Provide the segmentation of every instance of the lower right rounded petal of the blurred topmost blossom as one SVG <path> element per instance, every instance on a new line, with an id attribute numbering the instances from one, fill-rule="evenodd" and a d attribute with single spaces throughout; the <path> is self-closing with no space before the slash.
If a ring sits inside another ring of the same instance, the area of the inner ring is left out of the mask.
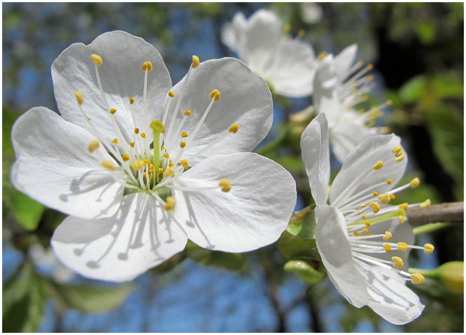
<path id="1" fill-rule="evenodd" d="M 288 39 L 278 44 L 272 66 L 265 70 L 265 74 L 278 94 L 302 97 L 312 93 L 316 67 L 311 46 Z"/>

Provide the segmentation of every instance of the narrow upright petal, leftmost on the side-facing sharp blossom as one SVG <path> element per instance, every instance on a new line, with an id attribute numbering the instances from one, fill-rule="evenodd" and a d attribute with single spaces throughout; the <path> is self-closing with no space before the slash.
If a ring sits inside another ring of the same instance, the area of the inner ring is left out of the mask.
<path id="1" fill-rule="evenodd" d="M 329 128 L 325 114 L 317 115 L 303 131 L 301 156 L 315 204 L 325 205 L 330 180 Z"/>

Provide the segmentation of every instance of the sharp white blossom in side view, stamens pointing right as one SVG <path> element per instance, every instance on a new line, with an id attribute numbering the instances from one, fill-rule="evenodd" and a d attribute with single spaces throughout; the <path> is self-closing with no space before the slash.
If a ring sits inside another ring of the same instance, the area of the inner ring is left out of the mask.
<path id="1" fill-rule="evenodd" d="M 395 193 L 416 187 L 419 179 L 392 189 L 404 174 L 407 158 L 394 134 L 366 139 L 353 149 L 330 187 L 329 130 L 325 114 L 309 123 L 301 137 L 302 159 L 309 176 L 315 208 L 315 242 L 329 279 L 352 305 L 368 305 L 385 320 L 405 324 L 424 305 L 405 286 L 424 282 L 407 273 L 411 249 L 432 253 L 433 246 L 415 246 L 405 209 L 422 204 L 387 205 Z M 389 242 L 393 238 L 396 242 Z"/>

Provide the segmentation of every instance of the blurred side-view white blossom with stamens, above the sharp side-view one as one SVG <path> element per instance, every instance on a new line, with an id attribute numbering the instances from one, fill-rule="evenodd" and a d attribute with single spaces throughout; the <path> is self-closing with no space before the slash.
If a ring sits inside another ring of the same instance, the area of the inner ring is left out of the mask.
<path id="1" fill-rule="evenodd" d="M 367 100 L 367 93 L 374 87 L 372 75 L 366 75 L 372 64 L 363 68 L 363 62 L 353 64 L 357 45 L 345 48 L 335 57 L 322 53 L 314 79 L 313 102 L 317 113 L 325 113 L 329 122 L 329 137 L 336 158 L 343 162 L 349 152 L 366 138 L 388 132 L 387 127 L 374 127 L 375 119 L 391 105 L 387 101 L 370 110 L 355 105 Z"/>

